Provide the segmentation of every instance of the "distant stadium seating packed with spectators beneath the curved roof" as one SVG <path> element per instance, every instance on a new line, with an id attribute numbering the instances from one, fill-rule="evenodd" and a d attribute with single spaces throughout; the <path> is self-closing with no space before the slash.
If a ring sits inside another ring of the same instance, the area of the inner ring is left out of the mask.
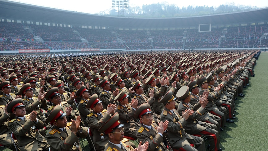
<path id="1" fill-rule="evenodd" d="M 198 32 L 197 29 L 122 31 L 0 22 L 0 31 L 0 50 L 256 48 L 267 47 L 268 43 L 264 34 L 268 33 L 267 24 Z"/>

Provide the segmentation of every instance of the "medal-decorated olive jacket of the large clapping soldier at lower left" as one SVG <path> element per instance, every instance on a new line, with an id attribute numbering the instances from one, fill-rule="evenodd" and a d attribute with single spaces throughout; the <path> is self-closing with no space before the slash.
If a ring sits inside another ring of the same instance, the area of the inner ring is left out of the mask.
<path id="1" fill-rule="evenodd" d="M 18 140 L 21 151 L 38 150 L 38 142 L 47 143 L 46 139 L 39 134 L 38 129 L 44 128 L 44 123 L 38 120 L 37 124 L 31 122 L 27 117 L 21 120 L 18 117 L 9 121 L 9 128 Z"/>

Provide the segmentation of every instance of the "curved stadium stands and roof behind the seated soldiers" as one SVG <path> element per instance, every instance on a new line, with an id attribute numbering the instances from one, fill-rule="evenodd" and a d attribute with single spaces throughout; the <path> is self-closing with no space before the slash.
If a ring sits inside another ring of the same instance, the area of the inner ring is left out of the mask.
<path id="1" fill-rule="evenodd" d="M 6 54 L 20 49 L 81 52 L 267 47 L 268 8 L 195 17 L 125 18 L 5 0 L 0 3 L 0 48 Z"/>

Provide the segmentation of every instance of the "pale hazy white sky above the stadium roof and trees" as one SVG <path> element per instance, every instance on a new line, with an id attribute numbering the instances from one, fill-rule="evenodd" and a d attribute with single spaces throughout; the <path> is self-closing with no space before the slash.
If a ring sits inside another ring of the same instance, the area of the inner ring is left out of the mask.
<path id="1" fill-rule="evenodd" d="M 58 8 L 69 11 L 85 12 L 95 14 L 112 8 L 112 0 L 11 0 L 32 5 Z M 267 0 L 129 0 L 130 6 L 142 6 L 152 3 L 168 2 L 182 8 L 183 6 L 213 6 L 218 7 L 221 4 L 234 3 L 235 5 L 256 6 L 259 8 L 268 7 Z"/>

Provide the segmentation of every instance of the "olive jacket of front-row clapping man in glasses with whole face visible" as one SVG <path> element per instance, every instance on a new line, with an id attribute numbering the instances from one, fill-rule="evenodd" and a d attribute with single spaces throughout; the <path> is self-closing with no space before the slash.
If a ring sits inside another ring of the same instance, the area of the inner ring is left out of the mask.
<path id="1" fill-rule="evenodd" d="M 164 133 L 163 137 L 165 135 L 166 134 Z M 157 134 L 157 130 L 154 126 L 152 126 L 151 129 L 148 129 L 143 124 L 141 124 L 137 133 L 138 142 L 141 141 L 141 144 L 144 144 L 147 141 L 149 142 L 148 151 L 168 151 L 163 143 L 163 137 L 160 134 Z"/>

